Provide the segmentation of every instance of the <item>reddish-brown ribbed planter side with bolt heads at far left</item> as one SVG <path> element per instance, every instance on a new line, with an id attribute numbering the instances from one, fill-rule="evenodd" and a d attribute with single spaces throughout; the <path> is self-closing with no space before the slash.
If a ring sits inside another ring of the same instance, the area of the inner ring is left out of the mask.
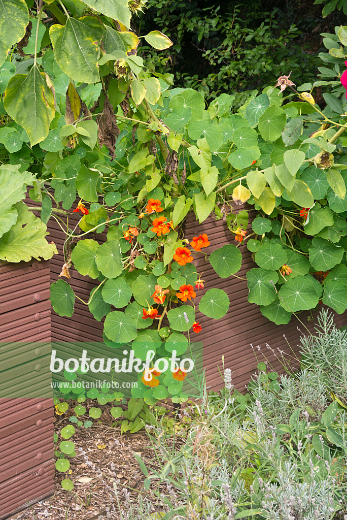
<path id="1" fill-rule="evenodd" d="M 0 262 L 1 519 L 54 492 L 49 286 L 49 262 Z"/>

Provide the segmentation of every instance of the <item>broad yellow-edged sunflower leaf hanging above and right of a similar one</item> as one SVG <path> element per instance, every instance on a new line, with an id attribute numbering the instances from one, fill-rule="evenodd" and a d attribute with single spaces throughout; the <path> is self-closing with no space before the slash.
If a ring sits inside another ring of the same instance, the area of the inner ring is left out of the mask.
<path id="1" fill-rule="evenodd" d="M 102 34 L 103 26 L 93 16 L 78 19 L 70 17 L 64 26 L 51 25 L 49 36 L 56 61 L 61 70 L 74 81 L 100 81 L 97 60 Z"/>

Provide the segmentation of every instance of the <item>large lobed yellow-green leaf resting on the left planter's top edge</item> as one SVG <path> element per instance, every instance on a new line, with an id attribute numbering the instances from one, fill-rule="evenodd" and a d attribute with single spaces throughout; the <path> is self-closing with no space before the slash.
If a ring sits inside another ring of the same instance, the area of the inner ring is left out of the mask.
<path id="1" fill-rule="evenodd" d="M 23 202 L 18 202 L 15 209 L 18 218 L 16 223 L 2 236 L 0 260 L 10 263 L 17 263 L 21 260 L 29 262 L 31 258 L 48 260 L 54 253 L 57 253 L 55 244 L 50 244 L 45 239 L 48 232 L 42 220 L 35 217 Z"/>

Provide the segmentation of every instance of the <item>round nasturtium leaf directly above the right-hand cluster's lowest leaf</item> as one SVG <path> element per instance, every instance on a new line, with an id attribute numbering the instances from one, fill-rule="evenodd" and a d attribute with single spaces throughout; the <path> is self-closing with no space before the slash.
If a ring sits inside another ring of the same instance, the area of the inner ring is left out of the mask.
<path id="1" fill-rule="evenodd" d="M 274 284 L 278 281 L 276 271 L 255 268 L 250 269 L 247 274 L 247 284 L 249 289 L 249 303 L 257 305 L 270 305 L 276 299 Z"/>

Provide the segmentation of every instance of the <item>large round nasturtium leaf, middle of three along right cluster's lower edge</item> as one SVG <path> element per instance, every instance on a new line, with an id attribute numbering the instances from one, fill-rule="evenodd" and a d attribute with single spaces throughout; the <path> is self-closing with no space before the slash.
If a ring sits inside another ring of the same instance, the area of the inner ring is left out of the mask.
<path id="1" fill-rule="evenodd" d="M 310 278 L 299 275 L 282 285 L 278 296 L 285 310 L 296 313 L 298 310 L 312 309 L 318 304 L 319 296 L 312 282 L 313 279 Z"/>

